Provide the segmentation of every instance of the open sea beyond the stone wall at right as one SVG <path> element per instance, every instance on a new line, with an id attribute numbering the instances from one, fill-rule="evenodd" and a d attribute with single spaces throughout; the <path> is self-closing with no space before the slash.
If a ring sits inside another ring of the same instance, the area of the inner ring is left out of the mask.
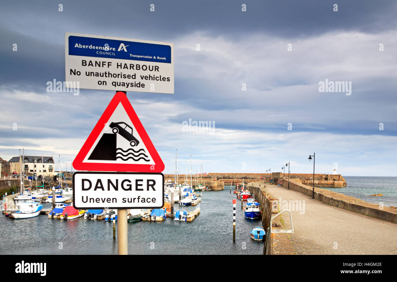
<path id="1" fill-rule="evenodd" d="M 338 193 L 359 198 L 361 200 L 384 206 L 397 206 L 397 177 L 378 176 L 343 176 L 347 187 L 324 188 Z M 372 194 L 383 194 L 383 196 L 370 196 Z"/>

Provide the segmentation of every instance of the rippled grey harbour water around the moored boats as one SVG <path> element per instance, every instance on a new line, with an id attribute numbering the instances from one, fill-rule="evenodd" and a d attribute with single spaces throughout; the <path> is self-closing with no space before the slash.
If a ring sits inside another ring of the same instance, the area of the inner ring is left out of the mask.
<path id="1" fill-rule="evenodd" d="M 228 187 L 229 188 L 229 187 Z M 226 189 L 226 187 L 225 187 Z M 234 190 L 234 187 L 233 187 Z M 174 221 L 128 223 L 129 254 L 262 254 L 263 242 L 251 239 L 249 232 L 262 226 L 260 220 L 244 217 L 241 202 L 236 205 L 236 240 L 233 243 L 233 203 L 230 189 L 206 191 L 198 206 L 180 207 L 200 215 L 192 222 Z M 246 202 L 244 202 L 246 203 Z M 50 204 L 44 204 L 50 208 Z M 30 219 L 0 218 L 0 254 L 117 254 L 113 223 L 70 221 L 39 215 Z M 117 225 L 117 223 L 116 223 Z M 116 232 L 117 234 L 117 232 Z"/>

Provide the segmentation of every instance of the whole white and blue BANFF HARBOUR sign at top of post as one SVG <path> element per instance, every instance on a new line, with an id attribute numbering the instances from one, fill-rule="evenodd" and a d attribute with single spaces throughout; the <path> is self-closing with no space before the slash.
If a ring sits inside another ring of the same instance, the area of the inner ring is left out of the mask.
<path id="1" fill-rule="evenodd" d="M 173 94 L 173 43 L 66 32 L 65 72 L 79 88 Z"/>

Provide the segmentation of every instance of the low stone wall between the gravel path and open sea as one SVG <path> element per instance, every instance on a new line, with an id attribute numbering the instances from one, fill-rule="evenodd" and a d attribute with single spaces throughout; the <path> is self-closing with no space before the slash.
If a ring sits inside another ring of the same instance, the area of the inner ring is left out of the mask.
<path id="1" fill-rule="evenodd" d="M 288 179 L 283 179 L 283 187 L 288 187 Z M 312 196 L 313 187 L 305 185 L 293 179 L 289 180 L 289 189 Z M 314 187 L 314 198 L 331 206 L 342 208 L 356 213 L 369 215 L 385 221 L 397 223 L 397 210 L 385 207 L 382 204 L 371 204 L 364 200 L 346 196 L 341 193 Z"/>

